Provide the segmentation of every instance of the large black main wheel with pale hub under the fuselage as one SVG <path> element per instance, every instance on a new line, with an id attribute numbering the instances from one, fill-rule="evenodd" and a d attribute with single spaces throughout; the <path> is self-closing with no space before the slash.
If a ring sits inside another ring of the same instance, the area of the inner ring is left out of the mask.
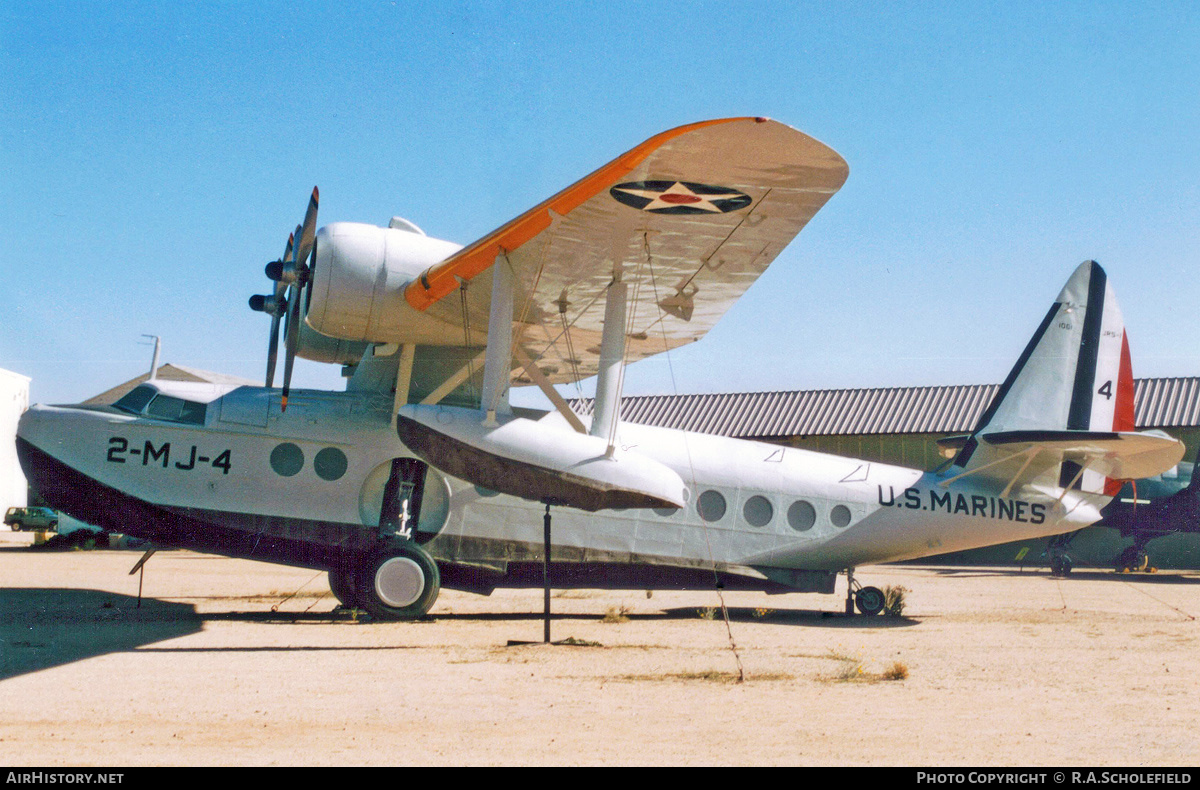
<path id="1" fill-rule="evenodd" d="M 442 591 L 438 563 L 415 543 L 389 543 L 355 574 L 359 608 L 376 620 L 422 617 Z"/>

